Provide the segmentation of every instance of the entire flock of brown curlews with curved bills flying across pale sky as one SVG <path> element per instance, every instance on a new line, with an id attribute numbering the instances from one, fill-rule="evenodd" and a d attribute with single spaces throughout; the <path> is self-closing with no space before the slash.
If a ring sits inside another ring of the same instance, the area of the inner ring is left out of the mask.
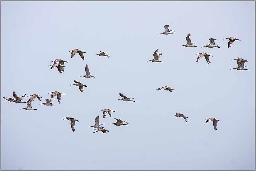
<path id="1" fill-rule="evenodd" d="M 169 27 L 169 25 L 164 26 L 165 32 L 160 33 L 160 34 L 168 35 L 168 34 L 174 34 L 174 33 L 175 33 L 173 30 L 169 30 L 168 27 Z M 181 46 L 185 46 L 185 47 L 197 47 L 197 46 L 193 45 L 193 43 L 191 43 L 191 39 L 189 38 L 189 36 L 191 36 L 191 35 L 188 34 L 187 37 L 186 37 L 187 44 L 181 45 Z M 236 39 L 236 38 L 234 38 L 234 37 L 228 37 L 228 38 L 226 38 L 226 39 L 229 39 L 229 41 L 228 41 L 228 48 L 231 47 L 231 44 L 232 44 L 235 40 L 239 40 L 239 41 L 240 41 L 240 39 Z M 220 46 L 218 46 L 218 45 L 215 44 L 215 42 L 214 42 L 214 40 L 216 40 L 216 39 L 210 38 L 209 40 L 210 40 L 210 44 L 209 44 L 209 45 L 205 45 L 205 46 L 203 46 L 203 47 L 209 47 L 209 48 L 217 47 L 217 48 L 220 48 Z M 223 40 L 224 40 L 224 39 L 223 39 Z M 180 47 L 181 47 L 181 46 L 180 46 Z M 81 51 L 81 50 L 79 50 L 79 49 L 73 49 L 72 51 L 69 51 L 69 52 L 71 52 L 71 58 L 73 58 L 73 57 L 75 56 L 75 53 L 79 53 L 79 55 L 80 55 L 80 57 L 82 58 L 82 60 L 84 60 L 84 55 L 83 55 L 83 53 L 86 53 L 86 52 Z M 158 52 L 158 49 L 156 49 L 156 51 L 155 51 L 154 54 L 153 54 L 154 59 L 151 59 L 151 60 L 149 60 L 149 61 L 152 61 L 152 62 L 162 62 L 162 61 L 159 61 L 160 55 L 162 55 L 162 53 L 160 53 L 160 54 L 158 55 L 157 52 Z M 100 53 L 98 53 L 98 54 L 96 54 L 96 55 L 99 55 L 99 56 L 101 56 L 101 57 L 106 56 L 106 57 L 109 58 L 109 55 L 107 55 L 106 53 L 104 53 L 104 52 L 102 52 L 102 51 L 100 51 Z M 199 59 L 201 59 L 201 58 L 204 56 L 205 59 L 206 59 L 206 61 L 207 61 L 207 63 L 210 64 L 209 56 L 212 57 L 212 55 L 207 54 L 207 53 L 204 53 L 204 52 L 198 53 L 198 54 L 196 54 L 196 55 L 198 55 L 196 62 L 198 62 Z M 247 66 L 244 66 L 244 63 L 245 63 L 245 62 L 248 62 L 247 60 L 244 60 L 244 59 L 239 58 L 239 57 L 238 57 L 237 59 L 233 59 L 233 60 L 236 60 L 236 61 L 237 61 L 238 67 L 237 67 L 237 68 L 232 68 L 232 69 L 237 69 L 237 70 L 249 70 L 249 69 L 245 69 L 245 68 L 244 68 L 244 67 L 247 67 Z M 232 61 L 233 61 L 233 60 L 232 60 Z M 51 62 L 54 62 L 54 63 L 53 63 L 52 65 L 49 65 L 49 66 L 51 66 L 50 69 L 52 69 L 52 68 L 54 68 L 54 67 L 57 67 L 59 73 L 62 74 L 62 73 L 64 72 L 64 68 L 63 68 L 63 67 L 66 67 L 66 66 L 64 66 L 64 63 L 67 62 L 67 61 L 64 61 L 64 60 L 62 60 L 62 59 L 55 59 L 54 61 L 51 61 Z M 59 62 L 59 64 L 58 64 L 57 62 Z M 147 62 L 148 62 L 148 61 L 147 61 Z M 68 62 L 67 62 L 67 63 L 68 63 Z M 231 69 L 230 69 L 230 70 L 231 70 Z M 86 66 L 85 66 L 85 72 L 86 72 L 86 75 L 83 75 L 83 76 L 80 76 L 80 77 L 95 78 L 94 76 L 91 76 L 91 75 L 90 75 L 90 71 L 89 71 L 89 68 L 88 68 L 88 65 L 87 65 L 87 64 L 86 64 Z M 72 86 L 72 85 L 78 86 L 78 87 L 79 87 L 79 90 L 80 90 L 81 92 L 84 91 L 84 90 L 83 90 L 83 87 L 87 87 L 86 85 L 84 85 L 84 84 L 82 84 L 82 83 L 80 83 L 80 82 L 77 82 L 77 80 L 74 80 L 74 82 L 75 82 L 76 84 L 71 84 L 70 86 Z M 168 90 L 168 91 L 170 91 L 170 92 L 172 92 L 172 91 L 175 90 L 175 89 L 173 89 L 173 88 L 171 88 L 171 87 L 167 87 L 167 86 L 158 88 L 158 89 L 156 89 L 156 90 L 161 90 L 161 89 Z M 53 91 L 53 92 L 50 92 L 50 93 L 51 93 L 50 100 L 49 100 L 49 99 L 46 99 L 46 103 L 41 103 L 40 105 L 43 104 L 43 105 L 46 105 L 46 106 L 54 106 L 54 105 L 51 103 L 51 100 L 52 100 L 55 96 L 57 96 L 57 100 L 58 100 L 58 102 L 59 102 L 59 104 L 60 104 L 60 103 L 61 103 L 61 102 L 60 102 L 60 100 L 61 100 L 61 95 L 62 95 L 62 94 L 65 94 L 65 93 L 61 93 L 61 92 L 58 92 L 58 91 Z M 48 93 L 48 94 L 49 94 L 49 93 Z M 123 98 L 122 98 L 122 99 L 117 99 L 117 100 L 133 101 L 133 102 L 135 102 L 134 100 L 132 100 L 133 98 L 128 98 L 128 97 L 126 97 L 125 95 L 123 95 L 122 93 L 119 93 L 119 95 L 120 95 L 121 97 L 123 97 Z M 41 101 L 42 96 L 37 95 L 37 94 L 30 95 L 31 97 L 30 97 L 30 98 L 28 99 L 28 101 L 26 101 L 26 102 L 25 102 L 25 101 L 22 101 L 25 96 L 26 96 L 26 94 L 23 95 L 23 96 L 21 96 L 21 97 L 18 97 L 18 96 L 16 95 L 16 93 L 13 91 L 13 97 L 14 97 L 15 99 L 12 99 L 12 98 L 9 98 L 9 97 L 3 97 L 3 98 L 4 98 L 5 100 L 9 101 L 9 102 L 27 103 L 27 107 L 22 108 L 22 109 L 25 109 L 25 110 L 37 110 L 37 109 L 32 108 L 31 103 L 32 103 L 32 101 L 34 101 L 35 98 L 37 98 L 39 101 Z M 27 97 L 29 97 L 29 96 L 27 96 Z M 4 100 L 4 101 L 5 101 L 5 100 Z M 21 110 L 21 109 L 20 109 L 20 110 Z M 106 114 L 105 114 L 105 113 L 108 113 L 108 114 L 111 116 L 111 113 L 110 113 L 110 112 L 115 112 L 114 110 L 110 110 L 110 109 L 104 109 L 104 110 L 100 110 L 100 111 L 103 111 L 103 118 L 106 117 Z M 176 116 L 176 117 L 183 117 L 183 118 L 185 119 L 185 121 L 187 122 L 187 118 L 188 118 L 188 117 L 185 116 L 185 115 L 183 115 L 183 114 L 181 114 L 181 113 L 178 113 L 178 112 L 177 112 L 176 115 L 174 115 L 174 116 Z M 77 121 L 77 122 L 79 122 L 79 121 L 78 121 L 77 119 L 74 119 L 74 118 L 71 118 L 71 117 L 66 117 L 66 118 L 64 118 L 64 119 L 67 119 L 67 120 L 70 120 L 70 121 L 71 121 L 71 123 L 70 123 L 70 124 L 71 124 L 71 129 L 72 129 L 72 131 L 74 132 L 74 131 L 75 131 L 75 128 L 74 128 L 75 121 Z M 64 120 L 64 119 L 63 119 L 63 120 Z M 114 125 L 116 125 L 116 126 L 128 125 L 128 123 L 125 122 L 125 121 L 123 121 L 123 120 L 120 120 L 120 119 L 117 119 L 117 118 L 115 118 L 115 120 L 116 120 L 116 122 L 115 122 L 115 123 L 112 123 L 112 124 L 114 124 Z M 205 124 L 207 124 L 207 122 L 209 122 L 209 121 L 211 121 L 211 120 L 213 121 L 213 127 L 214 127 L 214 130 L 216 131 L 216 130 L 217 130 L 217 128 L 216 128 L 216 127 L 217 127 L 217 123 L 218 123 L 218 121 L 220 121 L 220 120 L 217 120 L 217 119 L 215 119 L 215 118 L 208 118 L 208 119 L 206 119 Z M 126 123 L 126 124 L 125 124 L 125 123 Z M 101 126 L 101 125 L 104 125 L 104 124 L 100 124 L 100 123 L 99 123 L 99 116 L 97 116 L 97 117 L 95 118 L 95 125 L 90 126 L 90 127 L 96 128 L 96 129 L 94 129 L 94 130 L 97 130 L 97 131 L 95 131 L 95 132 L 98 132 L 98 131 L 102 131 L 103 133 L 109 132 L 109 130 L 104 129 L 104 127 Z M 110 124 L 108 124 L 108 125 L 110 125 Z M 89 128 L 90 128 L 90 127 L 89 127 Z M 94 132 L 94 133 L 95 133 L 95 132 Z"/>

